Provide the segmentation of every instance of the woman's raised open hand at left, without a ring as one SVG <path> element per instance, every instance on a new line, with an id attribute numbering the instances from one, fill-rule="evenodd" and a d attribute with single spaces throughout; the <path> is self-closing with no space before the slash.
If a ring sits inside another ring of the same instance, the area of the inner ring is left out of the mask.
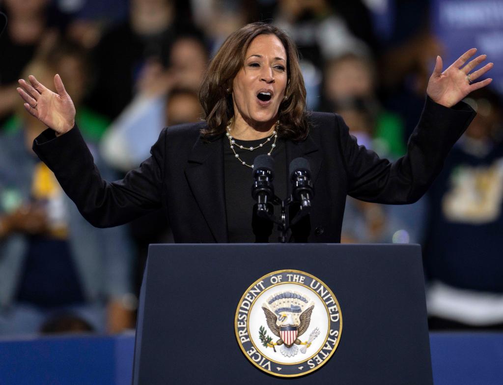
<path id="1" fill-rule="evenodd" d="M 39 83 L 35 76 L 28 76 L 30 83 L 19 80 L 18 93 L 26 102 L 26 110 L 46 126 L 56 131 L 56 136 L 64 134 L 75 125 L 75 106 L 64 89 L 58 74 L 54 76 L 57 94 Z"/>

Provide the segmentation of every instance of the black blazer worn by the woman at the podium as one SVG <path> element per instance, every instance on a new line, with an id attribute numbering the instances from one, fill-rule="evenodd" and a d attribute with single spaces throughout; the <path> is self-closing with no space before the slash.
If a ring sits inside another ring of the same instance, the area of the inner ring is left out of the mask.
<path id="1" fill-rule="evenodd" d="M 346 196 L 369 202 L 412 203 L 440 172 L 450 148 L 475 113 L 464 103 L 446 108 L 427 99 L 407 153 L 394 163 L 359 146 L 336 114 L 310 114 L 302 142 L 286 141 L 287 165 L 311 166 L 315 198 L 309 242 L 340 242 Z M 176 242 L 228 242 L 224 197 L 224 135 L 204 141 L 205 122 L 164 128 L 151 157 L 123 180 L 101 179 L 78 128 L 55 137 L 44 131 L 33 149 L 93 225 L 123 224 L 162 207 Z"/>

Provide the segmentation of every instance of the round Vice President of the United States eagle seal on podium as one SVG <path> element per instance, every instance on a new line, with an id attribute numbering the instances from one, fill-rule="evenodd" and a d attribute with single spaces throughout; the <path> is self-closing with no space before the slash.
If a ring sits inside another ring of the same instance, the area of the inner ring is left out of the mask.
<path id="1" fill-rule="evenodd" d="M 234 319 L 246 358 L 280 377 L 324 365 L 339 345 L 342 327 L 339 302 L 330 288 L 298 270 L 274 271 L 251 284 Z"/>

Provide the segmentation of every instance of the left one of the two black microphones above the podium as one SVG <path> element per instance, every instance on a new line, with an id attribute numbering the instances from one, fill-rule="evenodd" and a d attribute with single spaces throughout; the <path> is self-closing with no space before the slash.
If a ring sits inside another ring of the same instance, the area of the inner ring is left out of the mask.
<path id="1" fill-rule="evenodd" d="M 257 201 L 257 212 L 267 213 L 274 198 L 274 160 L 269 155 L 259 155 L 253 163 L 254 184 L 251 196 Z"/>

